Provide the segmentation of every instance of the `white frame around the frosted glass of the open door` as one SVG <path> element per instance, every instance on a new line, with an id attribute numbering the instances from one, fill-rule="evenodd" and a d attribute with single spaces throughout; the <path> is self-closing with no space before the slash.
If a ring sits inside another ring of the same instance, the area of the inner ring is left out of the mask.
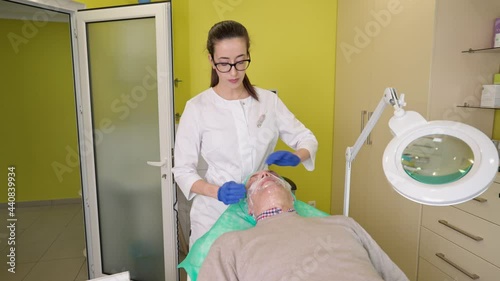
<path id="1" fill-rule="evenodd" d="M 157 50 L 157 81 L 158 81 L 158 112 L 160 155 L 159 159 L 152 161 L 161 162 L 161 196 L 162 196 L 162 218 L 163 218 L 163 253 L 165 261 L 165 279 L 177 279 L 177 222 L 174 212 L 174 181 L 172 177 L 172 151 L 173 151 L 173 83 L 172 83 L 172 44 L 171 44 L 171 22 L 170 3 L 159 2 L 148 5 L 132 5 L 106 9 L 95 9 L 77 13 L 77 34 L 79 54 L 79 79 L 81 87 L 81 114 L 85 141 L 83 142 L 85 152 L 81 155 L 86 158 L 86 188 L 88 197 L 86 207 L 89 207 L 89 224 L 92 247 L 88 249 L 89 271 L 91 277 L 102 276 L 101 249 L 99 237 L 99 223 L 97 210 L 96 178 L 94 167 L 94 144 L 92 138 L 92 116 L 90 98 L 90 79 L 88 71 L 88 53 L 86 22 L 98 22 L 103 20 L 122 20 L 132 18 L 155 17 L 156 24 L 156 50 Z M 161 28 L 164 27 L 164 28 Z M 166 51 L 163 51 L 166 50 Z M 169 59 L 170 58 L 170 59 Z M 81 153 L 82 154 L 82 153 Z M 145 163 L 146 164 L 146 163 Z"/>

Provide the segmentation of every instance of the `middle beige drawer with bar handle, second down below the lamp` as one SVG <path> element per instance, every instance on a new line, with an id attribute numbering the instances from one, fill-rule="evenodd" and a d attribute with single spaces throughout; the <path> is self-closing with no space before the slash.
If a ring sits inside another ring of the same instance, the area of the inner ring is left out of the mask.
<path id="1" fill-rule="evenodd" d="M 422 225 L 496 266 L 500 266 L 500 226 L 457 208 L 430 206 L 423 208 Z M 476 236 L 480 241 L 459 232 L 460 230 Z"/>

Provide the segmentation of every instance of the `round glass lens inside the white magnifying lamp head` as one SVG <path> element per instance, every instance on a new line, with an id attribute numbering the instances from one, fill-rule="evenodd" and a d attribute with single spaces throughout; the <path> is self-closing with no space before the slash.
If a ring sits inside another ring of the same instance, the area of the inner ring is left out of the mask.
<path id="1" fill-rule="evenodd" d="M 401 164 L 424 184 L 446 184 L 465 176 L 474 165 L 474 153 L 464 141 L 450 135 L 420 137 L 403 151 Z"/>

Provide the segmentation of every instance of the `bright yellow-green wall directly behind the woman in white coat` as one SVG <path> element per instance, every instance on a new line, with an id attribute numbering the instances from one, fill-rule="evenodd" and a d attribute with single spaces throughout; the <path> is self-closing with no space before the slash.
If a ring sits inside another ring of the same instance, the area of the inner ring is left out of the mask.
<path id="1" fill-rule="evenodd" d="M 175 9 L 175 0 L 174 9 Z M 189 1 L 191 96 L 209 86 L 207 32 L 218 21 L 245 25 L 252 40 L 253 84 L 277 89 L 280 98 L 319 141 L 314 172 L 278 168 L 298 185 L 297 197 L 330 211 L 336 1 Z M 175 17 L 175 10 L 174 10 Z M 174 27 L 175 30 L 175 27 Z M 176 37 L 174 36 L 174 40 Z M 277 149 L 286 149 L 283 144 Z M 274 167 L 272 167 L 274 168 Z"/>

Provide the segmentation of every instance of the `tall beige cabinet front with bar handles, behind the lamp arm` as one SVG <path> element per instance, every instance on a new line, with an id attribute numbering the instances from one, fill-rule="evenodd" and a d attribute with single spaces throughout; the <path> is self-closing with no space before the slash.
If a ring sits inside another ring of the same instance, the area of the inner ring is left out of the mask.
<path id="1" fill-rule="evenodd" d="M 408 94 L 409 110 L 426 115 L 434 24 L 432 1 L 338 3 L 333 213 L 342 210 L 345 150 L 360 134 L 361 110 L 373 111 L 384 89 L 395 87 Z M 372 145 L 364 145 L 352 163 L 349 215 L 415 280 L 421 206 L 393 191 L 382 170 L 391 116 L 388 107 L 372 131 Z"/>

